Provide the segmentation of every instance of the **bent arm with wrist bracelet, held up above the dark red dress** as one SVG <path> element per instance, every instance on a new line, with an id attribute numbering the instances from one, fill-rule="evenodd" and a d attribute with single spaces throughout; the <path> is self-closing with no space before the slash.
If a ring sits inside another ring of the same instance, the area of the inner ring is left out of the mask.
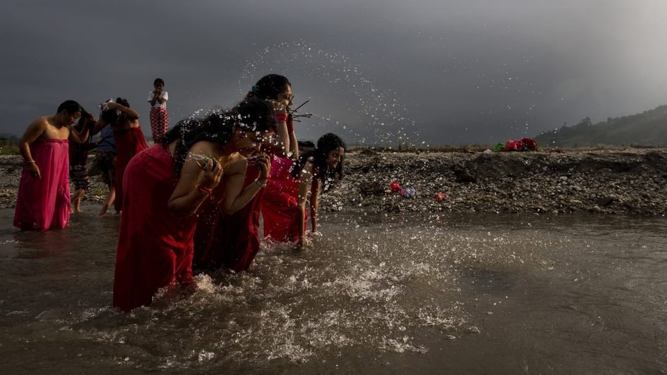
<path id="1" fill-rule="evenodd" d="M 256 163 L 260 172 L 254 183 L 244 187 L 248 162 Z M 250 160 L 239 160 L 235 164 L 230 166 L 230 169 L 235 172 L 224 178 L 224 197 L 218 203 L 218 207 L 225 215 L 236 213 L 252 201 L 259 190 L 266 186 L 271 169 L 271 162 L 268 156 L 264 155 L 254 156 Z"/>

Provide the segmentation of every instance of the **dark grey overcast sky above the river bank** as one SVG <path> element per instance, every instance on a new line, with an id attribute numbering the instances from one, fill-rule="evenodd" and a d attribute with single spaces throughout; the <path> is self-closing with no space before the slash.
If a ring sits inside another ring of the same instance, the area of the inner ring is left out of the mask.
<path id="1" fill-rule="evenodd" d="M 299 139 L 495 144 L 667 103 L 664 0 L 4 0 L 0 133 L 126 97 L 150 135 L 288 76 Z"/>

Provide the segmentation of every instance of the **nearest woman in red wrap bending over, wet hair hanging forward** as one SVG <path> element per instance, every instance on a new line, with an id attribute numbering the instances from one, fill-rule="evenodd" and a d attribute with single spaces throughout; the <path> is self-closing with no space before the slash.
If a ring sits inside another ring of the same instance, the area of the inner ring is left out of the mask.
<path id="1" fill-rule="evenodd" d="M 123 185 L 115 308 L 147 306 L 160 288 L 192 285 L 192 237 L 200 210 L 210 204 L 231 214 L 261 190 L 270 160 L 253 154 L 273 129 L 268 103 L 243 101 L 228 112 L 181 121 L 160 144 L 130 161 Z M 248 160 L 261 172 L 244 187 Z"/>

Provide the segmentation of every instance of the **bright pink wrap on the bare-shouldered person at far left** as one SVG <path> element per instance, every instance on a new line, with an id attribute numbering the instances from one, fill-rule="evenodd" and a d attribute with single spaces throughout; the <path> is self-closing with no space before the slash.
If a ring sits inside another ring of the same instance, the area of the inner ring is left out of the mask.
<path id="1" fill-rule="evenodd" d="M 47 231 L 65 228 L 71 212 L 69 201 L 69 142 L 44 140 L 30 144 L 42 178 L 23 169 L 14 211 L 14 226 Z"/>

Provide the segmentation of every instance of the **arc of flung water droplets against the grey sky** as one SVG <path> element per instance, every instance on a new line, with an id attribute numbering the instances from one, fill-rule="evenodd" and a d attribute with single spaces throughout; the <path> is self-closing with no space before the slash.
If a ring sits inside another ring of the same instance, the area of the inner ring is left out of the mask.
<path id="1" fill-rule="evenodd" d="M 283 74 L 296 85 L 295 106 L 312 98 L 303 110 L 313 117 L 298 125 L 299 138 L 318 138 L 331 132 L 348 144 L 371 146 L 391 145 L 399 139 L 411 144 L 418 138 L 415 120 L 402 105 L 404 100 L 365 76 L 362 67 L 347 56 L 303 40 L 265 47 L 243 68 L 238 81 L 240 94 L 269 73 Z M 299 80 L 296 83 L 295 77 Z M 309 90 L 313 88 L 324 91 Z M 304 97 L 298 99 L 300 95 Z"/>

